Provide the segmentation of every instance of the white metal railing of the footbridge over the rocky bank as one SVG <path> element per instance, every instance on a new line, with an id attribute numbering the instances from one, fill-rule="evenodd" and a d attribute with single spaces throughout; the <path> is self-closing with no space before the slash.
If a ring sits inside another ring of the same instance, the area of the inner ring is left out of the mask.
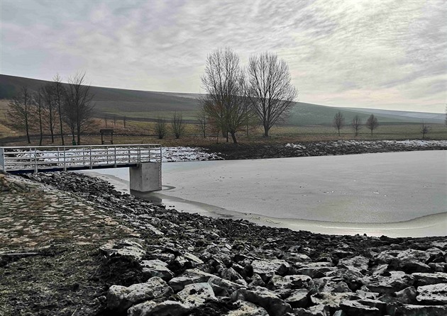
<path id="1" fill-rule="evenodd" d="M 160 162 L 160 144 L 0 147 L 3 171 L 95 169 Z"/>

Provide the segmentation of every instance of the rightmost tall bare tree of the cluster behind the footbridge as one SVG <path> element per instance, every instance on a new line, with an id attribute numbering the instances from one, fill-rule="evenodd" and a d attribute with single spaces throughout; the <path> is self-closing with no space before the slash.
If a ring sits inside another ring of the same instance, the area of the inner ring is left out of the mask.
<path id="1" fill-rule="evenodd" d="M 80 145 L 81 135 L 91 123 L 93 109 L 93 95 L 90 93 L 90 85 L 85 84 L 85 73 L 69 78 L 65 93 L 65 113 L 72 132 L 76 132 L 77 145 Z"/>

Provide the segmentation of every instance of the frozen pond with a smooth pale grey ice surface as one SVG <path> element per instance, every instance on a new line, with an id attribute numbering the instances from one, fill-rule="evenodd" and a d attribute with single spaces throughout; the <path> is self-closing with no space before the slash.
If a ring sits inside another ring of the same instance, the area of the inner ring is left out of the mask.
<path id="1" fill-rule="evenodd" d="M 146 198 L 296 230 L 447 235 L 446 164 L 446 151 L 170 162 Z M 127 169 L 99 172 L 128 189 Z"/>

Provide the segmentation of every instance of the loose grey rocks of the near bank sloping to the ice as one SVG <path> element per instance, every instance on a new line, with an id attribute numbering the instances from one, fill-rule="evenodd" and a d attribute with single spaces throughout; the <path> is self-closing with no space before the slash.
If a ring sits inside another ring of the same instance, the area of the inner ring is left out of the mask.
<path id="1" fill-rule="evenodd" d="M 31 174 L 126 219 L 101 315 L 447 315 L 447 238 L 335 236 L 166 210 L 81 174 Z"/>

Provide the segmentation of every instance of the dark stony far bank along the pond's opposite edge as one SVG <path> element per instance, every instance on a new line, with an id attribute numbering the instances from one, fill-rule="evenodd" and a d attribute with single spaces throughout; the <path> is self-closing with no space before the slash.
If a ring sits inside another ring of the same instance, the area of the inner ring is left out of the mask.
<path id="1" fill-rule="evenodd" d="M 285 157 L 331 156 L 373 152 L 407 152 L 414 150 L 446 150 L 447 140 L 338 140 L 329 142 L 300 142 L 285 145 L 257 144 L 205 147 L 219 152 L 223 159 L 264 159 Z"/>

